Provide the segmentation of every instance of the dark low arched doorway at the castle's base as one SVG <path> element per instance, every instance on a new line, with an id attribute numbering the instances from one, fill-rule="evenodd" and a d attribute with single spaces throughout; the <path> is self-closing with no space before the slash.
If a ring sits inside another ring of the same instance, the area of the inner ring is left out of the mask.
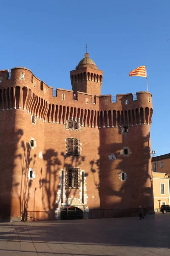
<path id="1" fill-rule="evenodd" d="M 83 212 L 78 207 L 69 206 L 61 211 L 61 221 L 80 220 L 83 218 Z"/>

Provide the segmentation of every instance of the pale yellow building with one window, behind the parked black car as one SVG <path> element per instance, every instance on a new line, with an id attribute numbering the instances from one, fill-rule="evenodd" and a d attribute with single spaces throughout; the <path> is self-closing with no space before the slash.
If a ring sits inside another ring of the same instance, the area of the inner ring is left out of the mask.
<path id="1" fill-rule="evenodd" d="M 161 205 L 170 204 L 170 177 L 167 173 L 153 172 L 154 209 L 159 211 Z"/>

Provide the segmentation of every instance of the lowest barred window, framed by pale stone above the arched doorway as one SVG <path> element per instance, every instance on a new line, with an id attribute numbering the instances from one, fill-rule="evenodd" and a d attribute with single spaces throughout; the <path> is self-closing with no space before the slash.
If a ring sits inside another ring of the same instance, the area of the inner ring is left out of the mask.
<path id="1" fill-rule="evenodd" d="M 65 188 L 79 189 L 79 168 L 66 168 Z"/>

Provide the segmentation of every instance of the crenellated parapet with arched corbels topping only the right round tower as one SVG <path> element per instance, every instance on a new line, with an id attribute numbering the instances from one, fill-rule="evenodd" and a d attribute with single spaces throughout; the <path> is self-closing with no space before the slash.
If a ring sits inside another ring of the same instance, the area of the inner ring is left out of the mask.
<path id="1" fill-rule="evenodd" d="M 152 95 L 149 92 L 99 96 L 99 128 L 123 125 L 150 125 L 153 114 Z"/>

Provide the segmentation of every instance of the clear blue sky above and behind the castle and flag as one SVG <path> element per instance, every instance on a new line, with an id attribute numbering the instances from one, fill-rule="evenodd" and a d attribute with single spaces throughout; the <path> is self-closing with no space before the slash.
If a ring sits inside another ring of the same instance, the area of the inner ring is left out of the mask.
<path id="1" fill-rule="evenodd" d="M 170 152 L 169 0 L 8 0 L 0 5 L 0 69 L 28 67 L 49 86 L 71 90 L 85 44 L 104 71 L 102 94 L 146 90 L 129 77 L 147 65 L 153 94 L 152 149 Z M 167 41 L 169 39 L 169 41 Z"/>

